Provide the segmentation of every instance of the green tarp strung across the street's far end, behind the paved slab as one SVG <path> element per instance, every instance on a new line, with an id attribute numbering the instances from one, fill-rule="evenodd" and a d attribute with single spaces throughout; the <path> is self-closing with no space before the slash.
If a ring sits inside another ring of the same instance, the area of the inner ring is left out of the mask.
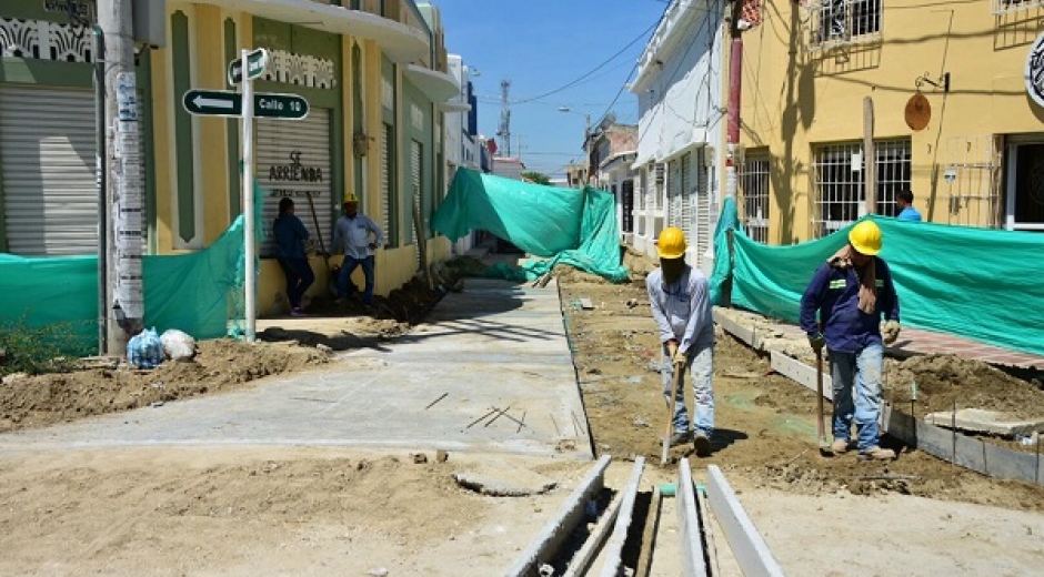
<path id="1" fill-rule="evenodd" d="M 613 282 L 628 279 L 620 260 L 615 200 L 591 186 L 545 186 L 460 169 L 431 227 L 452 240 L 489 231 L 546 259 L 528 261 L 521 271 L 494 270 L 513 280 L 536 279 L 560 263 Z"/>

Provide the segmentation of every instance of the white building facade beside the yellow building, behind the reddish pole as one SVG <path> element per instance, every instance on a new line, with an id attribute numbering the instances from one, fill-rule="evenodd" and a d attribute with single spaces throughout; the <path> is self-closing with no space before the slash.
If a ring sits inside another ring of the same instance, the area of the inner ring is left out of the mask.
<path id="1" fill-rule="evenodd" d="M 689 240 L 686 261 L 704 270 L 713 262 L 725 154 L 724 13 L 724 0 L 673 0 L 630 87 L 639 100 L 630 244 L 655 256 L 660 232 L 677 226 Z"/>

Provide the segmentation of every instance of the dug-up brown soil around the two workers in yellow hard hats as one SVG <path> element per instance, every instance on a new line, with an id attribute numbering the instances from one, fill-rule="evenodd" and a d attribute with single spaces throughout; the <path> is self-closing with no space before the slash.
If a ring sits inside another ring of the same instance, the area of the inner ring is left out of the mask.
<path id="1" fill-rule="evenodd" d="M 652 265 L 633 255 L 628 260 L 632 271 Z M 632 282 L 623 285 L 582 272 L 561 274 L 559 281 L 595 446 L 614 455 L 645 455 L 649 462 L 659 463 L 666 411 L 660 375 L 653 367 L 659 346 L 643 275 L 632 273 Z M 581 298 L 590 298 L 595 308 L 580 307 Z M 984 363 L 953 356 L 890 361 L 890 366 L 893 363 L 895 376 L 889 381 L 893 389 L 886 398 L 902 399 L 902 387 L 896 384 L 916 378 L 918 411 L 934 405 L 950 408 L 951 401 L 960 398 L 961 403 L 985 404 L 985 408 L 1020 406 L 1020 411 L 1044 414 L 1044 394 L 1034 383 Z M 991 479 L 900 445 L 892 445 L 900 458 L 891 463 L 859 463 L 854 454 L 821 457 L 815 441 L 815 394 L 773 374 L 767 358 L 721 331 L 715 343 L 714 396 L 715 453 L 695 463 L 713 462 L 726 475 L 742 477 L 753 487 L 803 495 L 840 489 L 857 495 L 897 492 L 1044 510 L 1044 489 L 1040 487 Z M 684 454 L 682 448 L 672 452 L 675 457 Z M 911 478 L 872 478 L 885 474 Z"/>

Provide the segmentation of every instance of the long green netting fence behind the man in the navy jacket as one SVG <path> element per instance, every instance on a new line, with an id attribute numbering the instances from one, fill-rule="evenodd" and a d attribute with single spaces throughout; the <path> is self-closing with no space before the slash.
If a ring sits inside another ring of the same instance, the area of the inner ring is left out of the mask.
<path id="1" fill-rule="evenodd" d="M 735 213 L 732 199 L 725 205 L 723 213 Z M 1044 234 L 870 217 L 882 231 L 881 257 L 892 269 L 904 325 L 1044 355 L 1044 282 L 1037 274 Z M 731 223 L 736 225 L 734 217 Z M 812 274 L 847 242 L 850 229 L 790 246 L 760 244 L 737 230 L 732 304 L 796 323 Z M 729 254 L 726 230 L 719 227 L 717 255 Z M 715 266 L 712 286 L 726 273 L 727 266 Z"/>

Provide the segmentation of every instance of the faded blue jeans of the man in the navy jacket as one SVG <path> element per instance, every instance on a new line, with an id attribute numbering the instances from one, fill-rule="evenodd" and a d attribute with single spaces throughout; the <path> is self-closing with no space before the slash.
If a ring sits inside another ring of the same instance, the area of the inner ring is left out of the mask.
<path id="1" fill-rule="evenodd" d="M 830 374 L 834 382 L 835 439 L 849 439 L 854 418 L 859 449 L 866 451 L 877 446 L 883 371 L 884 347 L 880 344 L 870 345 L 859 353 L 830 352 Z"/>

